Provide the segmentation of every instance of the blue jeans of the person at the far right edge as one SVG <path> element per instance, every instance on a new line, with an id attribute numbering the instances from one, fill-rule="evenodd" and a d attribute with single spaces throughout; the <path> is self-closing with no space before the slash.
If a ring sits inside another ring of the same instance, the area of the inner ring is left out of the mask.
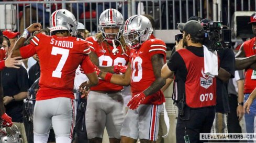
<path id="1" fill-rule="evenodd" d="M 244 94 L 243 102 L 246 102 L 250 94 Z M 250 113 L 244 113 L 244 119 L 246 121 L 246 132 L 253 133 L 254 131 L 254 117 L 256 116 L 256 100 L 253 100 L 250 107 Z"/>

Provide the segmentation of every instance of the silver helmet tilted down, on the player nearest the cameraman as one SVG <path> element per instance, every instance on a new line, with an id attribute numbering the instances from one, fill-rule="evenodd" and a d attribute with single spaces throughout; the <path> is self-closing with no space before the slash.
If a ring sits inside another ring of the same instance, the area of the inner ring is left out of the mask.
<path id="1" fill-rule="evenodd" d="M 130 48 L 136 48 L 149 39 L 153 32 L 150 20 L 141 15 L 128 18 L 124 25 L 125 43 Z"/>

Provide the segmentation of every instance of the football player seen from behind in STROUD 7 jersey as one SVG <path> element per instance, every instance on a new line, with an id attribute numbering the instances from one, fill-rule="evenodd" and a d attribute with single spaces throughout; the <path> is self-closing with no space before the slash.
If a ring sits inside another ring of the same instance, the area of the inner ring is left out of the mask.
<path id="1" fill-rule="evenodd" d="M 29 33 L 41 29 L 33 23 L 25 29 L 16 42 L 13 56 L 29 58 L 35 54 L 40 59 L 41 75 L 34 109 L 34 142 L 47 142 L 53 126 L 56 142 L 71 142 L 74 126 L 74 77 L 81 64 L 90 86 L 98 83 L 93 63 L 87 56 L 91 52 L 87 42 L 76 35 L 77 21 L 65 9 L 59 9 L 50 17 L 52 36 L 41 33 L 31 39 L 29 45 L 21 47 Z"/>

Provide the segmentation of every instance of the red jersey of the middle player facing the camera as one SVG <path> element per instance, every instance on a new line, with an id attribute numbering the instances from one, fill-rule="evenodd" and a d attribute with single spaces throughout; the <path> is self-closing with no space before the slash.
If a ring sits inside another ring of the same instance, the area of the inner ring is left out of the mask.
<path id="1" fill-rule="evenodd" d="M 102 42 L 97 43 L 96 38 L 94 36 L 87 37 L 86 41 L 88 42 L 92 52 L 94 52 L 98 56 L 99 66 L 100 67 L 109 67 L 115 66 L 118 64 L 127 65 L 129 61 L 129 48 L 125 47 L 126 53 L 123 53 L 121 46 L 117 47 L 118 54 L 114 55 L 112 50 L 114 49 L 113 46 Z M 119 91 L 122 90 L 124 87 L 120 85 L 116 85 L 113 83 L 109 83 L 107 81 L 99 79 L 98 85 L 91 87 L 91 90 L 98 90 L 98 91 Z"/>

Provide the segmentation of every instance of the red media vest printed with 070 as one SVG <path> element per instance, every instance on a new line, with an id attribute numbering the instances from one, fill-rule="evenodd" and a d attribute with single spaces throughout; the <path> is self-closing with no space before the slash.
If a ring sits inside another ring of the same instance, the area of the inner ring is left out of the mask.
<path id="1" fill-rule="evenodd" d="M 185 81 L 187 106 L 191 108 L 215 106 L 216 78 L 204 74 L 204 57 L 198 57 L 187 49 L 180 49 L 177 52 L 183 58 L 187 69 Z"/>

